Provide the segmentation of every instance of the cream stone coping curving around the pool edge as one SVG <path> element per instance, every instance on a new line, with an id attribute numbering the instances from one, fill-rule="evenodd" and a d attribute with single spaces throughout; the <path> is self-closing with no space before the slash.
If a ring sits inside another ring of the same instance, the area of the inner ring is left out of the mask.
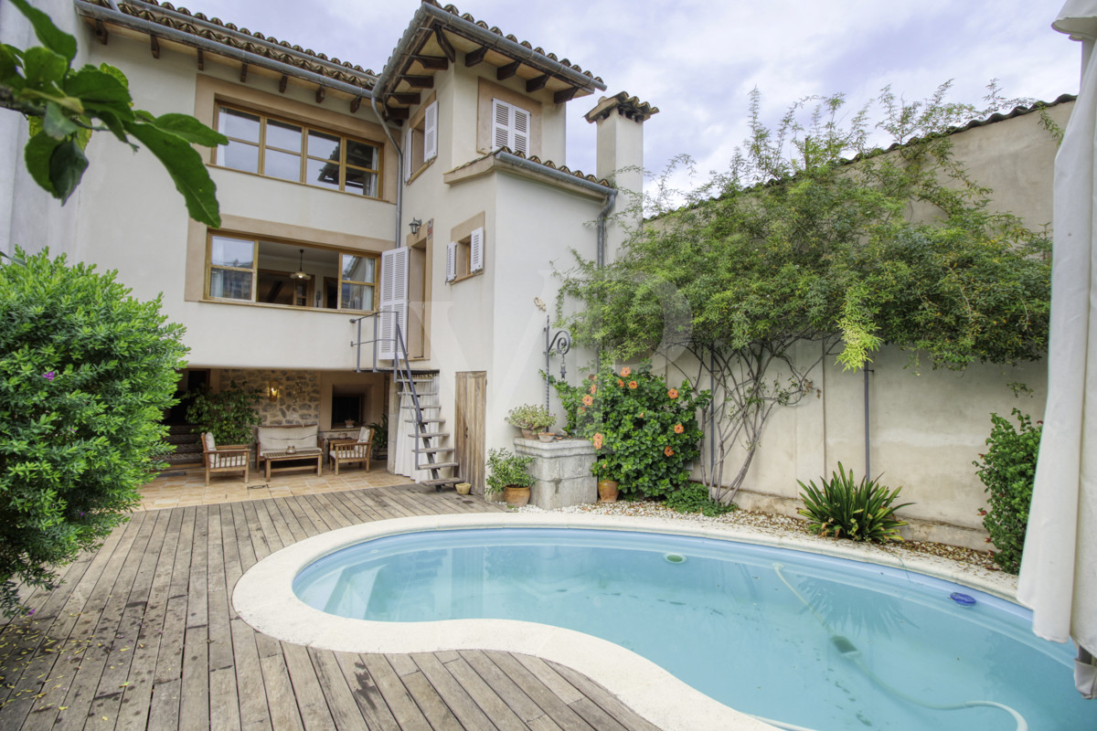
<path id="1" fill-rule="evenodd" d="M 509 619 L 450 619 L 385 623 L 336 617 L 314 609 L 293 593 L 293 579 L 324 556 L 363 540 L 425 530 L 551 527 L 663 533 L 791 548 L 907 569 L 1016 601 L 1016 576 L 972 571 L 932 556 L 897 556 L 852 541 L 773 535 L 746 526 L 710 527 L 689 521 L 561 513 L 475 513 L 392 518 L 349 526 L 279 550 L 240 578 L 233 592 L 237 614 L 255 629 L 307 647 L 342 652 L 441 652 L 498 650 L 536 655 L 567 665 L 604 686 L 626 706 L 666 731 L 774 727 L 700 693 L 655 663 L 607 640 L 536 623 Z M 785 727 L 794 728 L 794 727 Z"/>

